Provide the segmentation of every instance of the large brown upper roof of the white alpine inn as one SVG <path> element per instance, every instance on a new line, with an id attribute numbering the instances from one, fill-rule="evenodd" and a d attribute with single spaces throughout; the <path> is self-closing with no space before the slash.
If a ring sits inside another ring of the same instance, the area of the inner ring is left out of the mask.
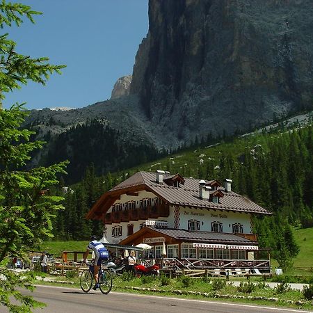
<path id="1" fill-rule="evenodd" d="M 169 176 L 169 175 L 168 175 Z M 166 179 L 167 175 L 163 177 Z M 215 209 L 221 211 L 239 211 L 244 213 L 268 214 L 269 211 L 260 207 L 255 202 L 242 195 L 227 192 L 225 188 L 218 187 L 218 191 L 223 193 L 219 203 L 208 200 L 202 200 L 199 197 L 200 179 L 184 177 L 184 185 L 179 187 L 168 186 L 167 184 L 158 184 L 155 172 L 136 172 L 136 174 L 127 178 L 110 191 L 104 193 L 102 197 L 95 203 L 93 208 L 88 212 L 87 218 L 97 218 L 106 213 L 111 205 L 120 198 L 120 195 L 127 192 L 150 191 L 157 197 L 172 205 L 181 205 L 185 207 L 197 207 L 199 209 Z M 208 181 L 217 182 L 217 181 Z M 215 193 L 216 191 L 214 191 Z"/>

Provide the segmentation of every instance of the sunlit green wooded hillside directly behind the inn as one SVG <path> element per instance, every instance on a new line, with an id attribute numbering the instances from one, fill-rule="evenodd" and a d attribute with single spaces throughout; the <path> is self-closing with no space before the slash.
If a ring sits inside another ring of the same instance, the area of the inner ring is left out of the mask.
<path id="1" fill-rule="evenodd" d="M 255 232 L 261 247 L 271 248 L 274 257 L 288 263 L 298 253 L 291 226 L 313 226 L 313 126 L 280 127 L 270 134 L 205 145 L 193 145 L 154 161 L 160 164 L 153 170 L 220 182 L 231 178 L 236 193 L 273 212 L 270 218 L 255 218 Z M 199 154 L 205 156 L 201 163 Z M 177 161 L 173 163 L 172 159 Z M 85 214 L 104 191 L 138 170 L 152 170 L 152 164 L 102 176 L 96 175 L 95 166 L 89 166 L 81 182 L 65 193 L 66 209 L 58 213 L 54 223 L 56 239 L 81 240 L 88 239 L 91 233 L 101 235 L 101 223 L 85 220 Z"/>

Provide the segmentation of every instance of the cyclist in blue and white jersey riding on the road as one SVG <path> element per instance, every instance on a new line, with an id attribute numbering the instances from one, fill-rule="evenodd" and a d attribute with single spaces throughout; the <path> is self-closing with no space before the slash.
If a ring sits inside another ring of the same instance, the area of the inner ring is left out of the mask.
<path id="1" fill-rule="evenodd" d="M 90 237 L 90 243 L 87 246 L 86 252 L 83 254 L 83 263 L 86 263 L 86 259 L 89 255 L 89 251 L 93 250 L 95 252 L 95 264 L 93 268 L 93 277 L 95 278 L 95 287 L 93 287 L 94 290 L 99 288 L 98 284 L 98 272 L 99 267 L 102 263 L 102 261 L 109 259 L 109 252 L 106 250 L 106 247 L 100 242 L 97 241 L 96 236 Z"/>

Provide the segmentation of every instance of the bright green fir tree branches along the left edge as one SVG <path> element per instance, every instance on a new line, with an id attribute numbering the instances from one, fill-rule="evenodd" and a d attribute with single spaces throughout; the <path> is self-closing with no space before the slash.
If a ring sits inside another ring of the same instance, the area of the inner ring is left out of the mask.
<path id="1" fill-rule="evenodd" d="M 0 26 L 19 26 L 22 17 L 33 22 L 38 14 L 29 6 L 20 3 L 0 3 Z M 35 81 L 45 84 L 49 74 L 59 72 L 63 67 L 49 65 L 47 58 L 30 58 L 17 54 L 15 42 L 8 35 L 0 36 L 0 97 L 5 92 L 20 88 L 21 83 Z M 1 101 L 1 100 L 0 100 Z M 0 103 L 0 305 L 10 312 L 31 312 L 40 305 L 26 289 L 33 289 L 31 273 L 22 277 L 6 268 L 13 257 L 27 258 L 26 251 L 38 248 L 42 239 L 51 236 L 51 218 L 62 198 L 49 193 L 51 186 L 58 184 L 58 174 L 65 174 L 67 162 L 48 168 L 25 170 L 29 154 L 42 147 L 42 142 L 31 142 L 33 131 L 21 129 L 26 116 L 22 106 L 10 110 L 1 109 Z M 18 287 L 18 290 L 17 290 Z M 13 303 L 11 303 L 11 301 Z M 42 305 L 42 304 L 41 304 Z"/>

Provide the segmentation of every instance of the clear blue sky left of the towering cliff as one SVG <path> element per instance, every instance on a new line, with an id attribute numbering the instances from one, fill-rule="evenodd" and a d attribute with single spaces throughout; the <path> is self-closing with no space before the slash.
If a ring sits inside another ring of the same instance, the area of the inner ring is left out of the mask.
<path id="1" fill-rule="evenodd" d="M 14 1 L 17 2 L 17 1 Z M 20 0 L 42 12 L 35 24 L 3 29 L 16 51 L 65 64 L 46 86 L 29 82 L 7 93 L 3 106 L 27 109 L 79 108 L 111 97 L 115 81 L 131 74 L 138 46 L 148 31 L 148 0 Z"/>

